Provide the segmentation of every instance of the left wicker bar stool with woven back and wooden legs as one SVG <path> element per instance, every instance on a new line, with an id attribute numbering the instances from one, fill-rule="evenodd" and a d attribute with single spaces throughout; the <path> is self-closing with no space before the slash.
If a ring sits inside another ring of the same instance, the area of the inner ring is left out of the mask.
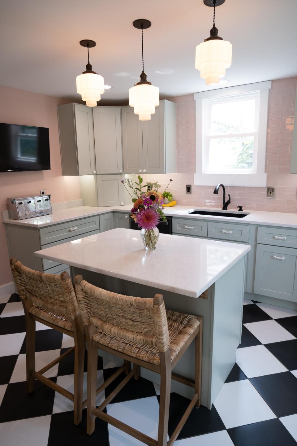
<path id="1" fill-rule="evenodd" d="M 35 379 L 69 398 L 74 404 L 74 424 L 81 422 L 86 405 L 82 401 L 85 333 L 69 274 L 60 276 L 40 273 L 22 265 L 15 257 L 10 259 L 12 274 L 23 303 L 26 320 L 27 390 L 34 390 Z M 74 347 L 54 359 L 38 372 L 35 371 L 35 321 L 74 338 Z M 43 374 L 74 350 L 74 393 L 53 383 Z"/>

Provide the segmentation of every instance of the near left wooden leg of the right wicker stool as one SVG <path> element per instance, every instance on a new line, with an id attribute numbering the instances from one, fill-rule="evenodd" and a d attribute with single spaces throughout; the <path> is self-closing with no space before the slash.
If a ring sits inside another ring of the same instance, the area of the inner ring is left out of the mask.
<path id="1" fill-rule="evenodd" d="M 98 349 L 88 343 L 88 402 L 87 402 L 87 434 L 95 429 L 95 415 L 92 409 L 96 407 Z"/>

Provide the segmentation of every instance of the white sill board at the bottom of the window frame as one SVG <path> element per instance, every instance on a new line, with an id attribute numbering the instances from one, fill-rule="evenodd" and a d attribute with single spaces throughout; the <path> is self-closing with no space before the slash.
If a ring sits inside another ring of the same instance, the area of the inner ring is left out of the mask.
<path id="1" fill-rule="evenodd" d="M 266 173 L 194 173 L 195 186 L 266 187 Z"/>

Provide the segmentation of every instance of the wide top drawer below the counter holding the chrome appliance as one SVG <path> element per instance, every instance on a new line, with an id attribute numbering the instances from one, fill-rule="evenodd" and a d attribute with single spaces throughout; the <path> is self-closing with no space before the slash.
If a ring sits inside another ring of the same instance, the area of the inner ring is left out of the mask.
<path id="1" fill-rule="evenodd" d="M 85 234 L 86 232 L 99 230 L 99 216 L 94 215 L 86 219 L 72 220 L 66 223 L 59 223 L 54 226 L 47 226 L 39 230 L 41 245 L 67 240 L 74 235 Z"/>

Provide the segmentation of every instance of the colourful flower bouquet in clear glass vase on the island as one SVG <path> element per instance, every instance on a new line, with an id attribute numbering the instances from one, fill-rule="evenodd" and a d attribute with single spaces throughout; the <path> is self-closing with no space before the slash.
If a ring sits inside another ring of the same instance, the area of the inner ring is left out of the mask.
<path id="1" fill-rule="evenodd" d="M 170 180 L 170 182 L 171 181 L 172 180 Z M 168 183 L 167 187 L 169 186 L 170 182 Z M 149 187 L 149 190 L 147 190 L 148 186 L 150 185 L 143 185 L 143 180 L 140 175 L 138 175 L 138 182 L 133 183 L 133 180 L 130 180 L 130 178 L 125 178 L 125 180 L 122 180 L 122 183 L 126 187 L 129 194 L 130 189 L 135 195 L 135 197 L 133 197 L 130 194 L 133 202 L 131 218 L 133 218 L 138 224 L 138 227 L 141 228 L 141 238 L 144 247 L 147 251 L 155 249 L 160 234 L 157 224 L 159 223 L 160 219 L 162 219 L 164 222 L 167 221 L 162 210 L 163 194 L 158 192 L 158 190 L 151 189 L 151 187 Z"/>

